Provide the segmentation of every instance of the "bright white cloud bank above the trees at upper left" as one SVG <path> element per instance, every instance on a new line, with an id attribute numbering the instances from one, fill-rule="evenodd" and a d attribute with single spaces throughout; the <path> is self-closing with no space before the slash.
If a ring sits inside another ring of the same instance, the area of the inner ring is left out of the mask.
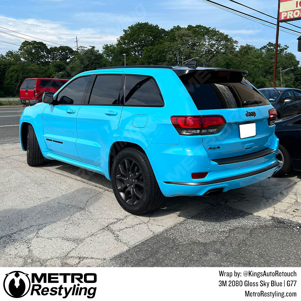
<path id="1" fill-rule="evenodd" d="M 107 43 L 115 43 L 119 35 L 114 34 L 103 34 L 99 29 L 82 27 L 80 29 L 69 29 L 66 24 L 50 21 L 50 20 L 38 20 L 38 19 L 14 19 L 11 17 L 5 17 L 0 15 L 0 26 L 7 29 L 14 30 L 18 33 L 14 33 L 5 29 L 0 28 L 1 31 L 10 33 L 15 36 L 20 36 L 22 39 L 0 33 L 0 40 L 21 44 L 23 40 L 37 40 L 43 39 L 50 42 L 42 41 L 52 46 L 67 45 L 75 47 L 75 39 L 79 40 L 80 46 L 94 45 L 101 51 L 102 46 Z M 26 34 L 33 37 L 24 36 Z M 57 43 L 57 44 L 54 44 Z M 5 48 L 15 48 L 16 45 L 1 42 L 2 45 L 6 45 Z M 51 47 L 49 46 L 48 47 Z M 0 53 L 6 52 L 0 49 Z"/>

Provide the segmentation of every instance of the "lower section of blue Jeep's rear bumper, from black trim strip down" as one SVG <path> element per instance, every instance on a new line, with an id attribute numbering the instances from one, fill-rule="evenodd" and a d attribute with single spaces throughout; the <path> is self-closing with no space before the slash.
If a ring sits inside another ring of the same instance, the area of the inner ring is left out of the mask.
<path id="1" fill-rule="evenodd" d="M 271 166 L 265 167 L 250 173 L 237 175 L 229 178 L 217 179 L 211 182 L 201 183 L 184 183 L 184 182 L 158 182 L 162 193 L 166 197 L 175 197 L 181 195 L 187 196 L 202 196 L 213 189 L 221 189 L 223 192 L 236 189 L 257 182 L 263 181 L 266 178 L 271 178 L 277 172 L 279 163 L 274 163 Z M 215 183 L 212 183 L 215 182 Z"/>

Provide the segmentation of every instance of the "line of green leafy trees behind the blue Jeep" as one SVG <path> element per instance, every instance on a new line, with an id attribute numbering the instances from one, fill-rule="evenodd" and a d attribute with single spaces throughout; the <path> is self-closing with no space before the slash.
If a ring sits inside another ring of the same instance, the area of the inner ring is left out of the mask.
<path id="1" fill-rule="evenodd" d="M 301 67 L 296 56 L 279 45 L 278 68 L 293 67 L 285 73 L 286 87 L 301 88 Z M 100 52 L 95 46 L 74 50 L 68 46 L 50 47 L 43 42 L 24 41 L 17 51 L 0 55 L 0 97 L 17 96 L 25 78 L 70 79 L 78 73 L 100 67 L 124 65 L 182 65 L 193 57 L 206 67 L 247 70 L 247 79 L 257 88 L 272 86 L 275 44 L 257 48 L 238 42 L 215 28 L 203 25 L 174 26 L 169 30 L 148 22 L 135 23 L 123 30 L 115 44 Z M 277 71 L 280 86 L 280 71 Z"/>

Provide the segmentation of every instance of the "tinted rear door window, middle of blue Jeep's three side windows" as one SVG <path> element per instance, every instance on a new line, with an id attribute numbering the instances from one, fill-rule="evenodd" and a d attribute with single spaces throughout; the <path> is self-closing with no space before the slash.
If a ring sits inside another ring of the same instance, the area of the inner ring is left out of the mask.
<path id="1" fill-rule="evenodd" d="M 119 104 L 121 75 L 98 75 L 95 79 L 89 104 Z"/>

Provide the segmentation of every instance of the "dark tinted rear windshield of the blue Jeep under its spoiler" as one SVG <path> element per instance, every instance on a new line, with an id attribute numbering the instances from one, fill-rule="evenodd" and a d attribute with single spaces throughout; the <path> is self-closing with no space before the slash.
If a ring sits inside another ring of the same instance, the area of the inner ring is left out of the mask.
<path id="1" fill-rule="evenodd" d="M 179 78 L 198 110 L 257 107 L 269 104 L 242 75 L 212 75 L 206 78 L 188 73 Z"/>

